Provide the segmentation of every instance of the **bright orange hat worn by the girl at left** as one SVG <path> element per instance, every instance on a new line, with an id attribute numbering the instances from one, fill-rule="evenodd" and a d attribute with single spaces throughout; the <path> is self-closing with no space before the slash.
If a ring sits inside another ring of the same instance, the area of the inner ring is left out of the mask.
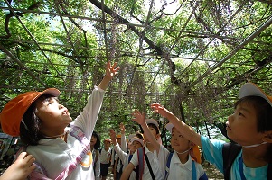
<path id="1" fill-rule="evenodd" d="M 20 136 L 20 124 L 23 119 L 23 114 L 42 94 L 52 94 L 53 96 L 58 97 L 61 92 L 58 89 L 49 88 L 42 92 L 31 91 L 19 94 L 17 97 L 10 100 L 5 104 L 0 113 L 0 122 L 3 132 L 14 137 Z"/>

